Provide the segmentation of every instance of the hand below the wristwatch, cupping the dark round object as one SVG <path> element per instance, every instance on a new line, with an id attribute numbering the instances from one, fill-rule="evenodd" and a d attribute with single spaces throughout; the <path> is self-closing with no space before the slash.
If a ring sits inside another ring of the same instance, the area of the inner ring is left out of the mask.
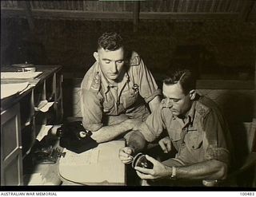
<path id="1" fill-rule="evenodd" d="M 154 164 L 153 169 L 143 167 L 134 168 L 136 170 L 137 175 L 141 179 L 160 179 L 171 175 L 171 167 L 163 165 L 158 160 L 154 160 L 154 158 L 150 156 L 146 156 L 146 160 L 149 160 L 152 164 Z"/>

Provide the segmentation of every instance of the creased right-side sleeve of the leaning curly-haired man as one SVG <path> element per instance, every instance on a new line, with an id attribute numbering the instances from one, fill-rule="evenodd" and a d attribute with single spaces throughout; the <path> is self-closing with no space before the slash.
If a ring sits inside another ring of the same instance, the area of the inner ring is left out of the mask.
<path id="1" fill-rule="evenodd" d="M 144 98 L 146 103 L 153 100 L 154 97 L 161 95 L 161 89 L 158 89 L 158 85 L 154 81 L 154 77 L 150 70 L 146 68 L 142 59 L 138 65 L 138 81 L 139 81 L 139 93 Z"/>

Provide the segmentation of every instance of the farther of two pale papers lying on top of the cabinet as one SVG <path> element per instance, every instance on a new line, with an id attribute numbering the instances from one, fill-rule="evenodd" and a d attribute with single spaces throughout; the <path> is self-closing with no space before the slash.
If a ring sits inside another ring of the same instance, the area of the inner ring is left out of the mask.
<path id="1" fill-rule="evenodd" d="M 42 72 L 2 72 L 1 79 L 34 79 Z"/>

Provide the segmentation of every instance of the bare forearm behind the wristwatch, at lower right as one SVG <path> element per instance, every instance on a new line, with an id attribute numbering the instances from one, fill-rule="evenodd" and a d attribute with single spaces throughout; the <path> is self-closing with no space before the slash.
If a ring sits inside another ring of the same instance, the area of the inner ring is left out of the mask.
<path id="1" fill-rule="evenodd" d="M 226 171 L 226 164 L 218 160 L 209 160 L 177 167 L 176 175 L 178 179 L 225 179 Z"/>

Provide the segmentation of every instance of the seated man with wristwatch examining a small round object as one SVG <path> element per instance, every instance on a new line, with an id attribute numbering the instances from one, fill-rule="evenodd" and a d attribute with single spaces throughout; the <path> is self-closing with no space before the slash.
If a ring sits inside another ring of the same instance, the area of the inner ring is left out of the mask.
<path id="1" fill-rule="evenodd" d="M 158 144 L 166 153 L 175 148 L 177 154 L 162 163 L 146 156 L 153 169 L 135 167 L 138 176 L 147 180 L 145 185 L 184 186 L 185 180 L 196 180 L 193 186 L 198 186 L 203 179 L 203 184 L 210 186 L 225 179 L 230 165 L 230 133 L 218 106 L 195 92 L 195 79 L 186 69 L 174 71 L 163 81 L 162 94 L 165 98 L 160 107 L 140 125 L 139 132 L 131 134 L 119 158 L 129 164 L 146 141 L 152 142 L 167 131 Z"/>

